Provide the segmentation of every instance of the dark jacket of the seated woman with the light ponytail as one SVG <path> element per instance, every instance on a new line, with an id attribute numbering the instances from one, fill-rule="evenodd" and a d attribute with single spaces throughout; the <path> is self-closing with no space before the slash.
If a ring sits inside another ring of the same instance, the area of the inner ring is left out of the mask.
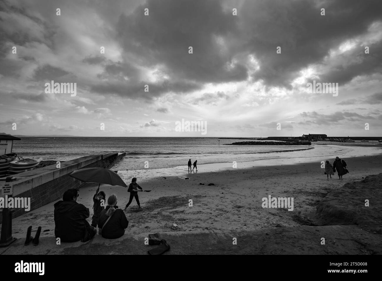
<path id="1" fill-rule="evenodd" d="M 106 206 L 105 210 L 102 210 L 98 218 L 98 227 L 102 228 L 102 237 L 116 239 L 125 234 L 125 229 L 128 227 L 129 221 L 126 218 L 125 213 L 123 213 L 121 209 L 118 209 L 118 206 L 115 206 L 114 214 L 112 214 L 112 217 L 104 227 L 104 224 L 108 219 L 106 212 L 109 208 L 110 206 Z"/>

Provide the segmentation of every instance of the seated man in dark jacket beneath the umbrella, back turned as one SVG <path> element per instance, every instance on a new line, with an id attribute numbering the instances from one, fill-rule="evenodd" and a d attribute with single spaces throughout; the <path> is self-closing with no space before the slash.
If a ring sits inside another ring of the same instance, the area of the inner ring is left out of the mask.
<path id="1" fill-rule="evenodd" d="M 87 222 L 89 209 L 77 203 L 78 196 L 78 190 L 71 188 L 65 191 L 63 201 L 54 204 L 54 234 L 62 242 L 79 240 L 86 242 L 94 237 L 97 232 L 97 229 Z"/>

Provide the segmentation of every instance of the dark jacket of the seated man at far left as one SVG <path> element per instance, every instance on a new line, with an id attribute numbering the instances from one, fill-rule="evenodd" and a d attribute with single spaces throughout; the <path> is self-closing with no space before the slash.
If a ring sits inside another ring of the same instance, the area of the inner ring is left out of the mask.
<path id="1" fill-rule="evenodd" d="M 75 201 L 58 201 L 54 204 L 54 234 L 62 242 L 76 242 L 84 238 L 89 209 Z"/>

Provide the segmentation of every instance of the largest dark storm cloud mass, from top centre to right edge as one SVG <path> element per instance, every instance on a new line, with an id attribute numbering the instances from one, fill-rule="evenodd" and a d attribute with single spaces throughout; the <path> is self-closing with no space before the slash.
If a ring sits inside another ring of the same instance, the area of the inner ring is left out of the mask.
<path id="1" fill-rule="evenodd" d="M 256 80 L 290 88 L 302 68 L 322 62 L 329 50 L 365 34 L 371 23 L 382 18 L 379 0 L 317 3 L 246 1 L 238 16 L 233 16 L 215 0 L 197 0 L 192 5 L 183 0 L 149 0 L 133 13 L 120 16 L 118 40 L 146 67 L 164 65 L 173 79 L 201 83 L 245 80 L 246 55 L 253 54 L 260 66 L 254 73 Z M 144 16 L 144 8 L 149 8 L 149 16 Z M 320 15 L 320 8 L 325 8 L 325 16 Z M 188 54 L 189 46 L 193 54 Z M 277 46 L 281 54 L 276 54 Z M 363 47 L 345 52 L 341 56 L 350 57 L 352 63 L 317 74 L 322 81 L 345 83 L 380 70 L 382 44 L 370 47 L 373 51 L 368 55 Z"/>

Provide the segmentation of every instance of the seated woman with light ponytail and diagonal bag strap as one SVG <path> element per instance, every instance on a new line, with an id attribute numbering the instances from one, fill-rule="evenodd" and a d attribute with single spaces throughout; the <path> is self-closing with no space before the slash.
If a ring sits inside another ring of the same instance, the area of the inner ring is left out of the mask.
<path id="1" fill-rule="evenodd" d="M 102 237 L 116 239 L 125 234 L 129 221 L 125 213 L 118 209 L 117 196 L 112 194 L 107 199 L 107 206 L 98 218 L 98 226 L 102 229 Z"/>

